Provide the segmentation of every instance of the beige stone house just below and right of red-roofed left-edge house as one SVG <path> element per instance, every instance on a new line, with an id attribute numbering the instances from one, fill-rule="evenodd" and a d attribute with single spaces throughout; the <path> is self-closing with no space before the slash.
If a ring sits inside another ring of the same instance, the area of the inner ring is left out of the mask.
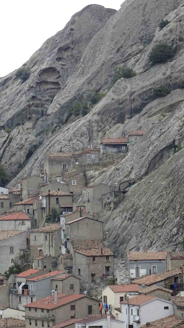
<path id="1" fill-rule="evenodd" d="M 61 254 L 60 223 L 49 224 L 30 232 L 31 258 L 38 256 L 58 257 Z"/>

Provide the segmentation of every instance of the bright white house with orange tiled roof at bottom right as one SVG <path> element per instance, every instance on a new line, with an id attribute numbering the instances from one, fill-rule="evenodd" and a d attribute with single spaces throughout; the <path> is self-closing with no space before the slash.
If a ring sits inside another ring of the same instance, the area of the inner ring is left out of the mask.
<path id="1" fill-rule="evenodd" d="M 171 301 L 138 295 L 122 301 L 121 320 L 125 321 L 123 328 L 139 328 L 146 322 L 154 321 L 173 314 Z"/>

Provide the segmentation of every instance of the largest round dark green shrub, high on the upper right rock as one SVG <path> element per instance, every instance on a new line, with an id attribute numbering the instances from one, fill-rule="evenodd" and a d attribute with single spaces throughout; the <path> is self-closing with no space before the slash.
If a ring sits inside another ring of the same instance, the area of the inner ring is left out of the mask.
<path id="1" fill-rule="evenodd" d="M 153 64 L 166 63 L 174 56 L 172 45 L 159 44 L 156 45 L 149 55 L 149 59 Z"/>

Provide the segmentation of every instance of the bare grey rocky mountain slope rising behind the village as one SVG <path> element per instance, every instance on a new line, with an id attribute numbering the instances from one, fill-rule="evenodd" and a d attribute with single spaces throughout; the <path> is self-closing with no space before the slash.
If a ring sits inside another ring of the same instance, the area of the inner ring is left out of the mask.
<path id="1" fill-rule="evenodd" d="M 159 30 L 162 19 L 169 24 Z M 98 146 L 104 136 L 148 130 L 125 159 L 96 180 L 114 186 L 139 178 L 116 209 L 101 215 L 107 242 L 119 256 L 126 247 L 181 248 L 184 151 L 173 153 L 184 143 L 183 25 L 181 0 L 126 0 L 118 12 L 87 6 L 25 63 L 26 82 L 16 71 L 0 80 L 2 163 L 15 174 L 23 167 L 11 185 L 39 173 L 47 152 Z M 172 45 L 175 55 L 153 65 L 150 52 L 162 43 Z M 136 76 L 110 88 L 113 68 L 123 65 Z M 170 89 L 166 97 L 155 97 L 160 85 Z M 74 120 L 75 102 L 91 92 L 106 95 Z M 124 124 L 117 120 L 120 112 Z M 53 127 L 56 132 L 47 136 Z"/>

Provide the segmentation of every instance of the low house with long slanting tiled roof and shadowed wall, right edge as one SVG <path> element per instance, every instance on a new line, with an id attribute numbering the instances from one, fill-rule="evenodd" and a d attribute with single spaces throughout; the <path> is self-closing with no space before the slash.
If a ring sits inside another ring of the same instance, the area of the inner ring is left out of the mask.
<path id="1" fill-rule="evenodd" d="M 155 274 L 151 276 L 135 279 L 132 283 L 139 284 L 140 288 L 143 286 L 163 286 L 174 294 L 179 293 L 183 289 L 183 267 L 178 267 L 169 271 L 165 271 L 161 274 Z"/>

